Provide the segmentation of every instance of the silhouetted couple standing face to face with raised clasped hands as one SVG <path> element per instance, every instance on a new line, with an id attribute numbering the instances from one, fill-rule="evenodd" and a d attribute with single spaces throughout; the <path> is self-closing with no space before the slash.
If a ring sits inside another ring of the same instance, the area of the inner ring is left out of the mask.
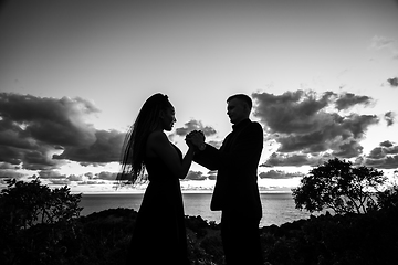
<path id="1" fill-rule="evenodd" d="M 124 145 L 121 180 L 135 183 L 147 170 L 149 183 L 138 211 L 126 264 L 191 264 L 187 253 L 185 214 L 179 179 L 192 161 L 217 170 L 210 203 L 221 211 L 221 240 L 227 265 L 263 264 L 259 223 L 262 206 L 256 183 L 263 148 L 263 130 L 249 119 L 252 100 L 235 94 L 227 99 L 232 131 L 222 146 L 206 144 L 193 130 L 186 136 L 188 151 L 181 151 L 164 132 L 176 123 L 167 95 L 155 94 L 143 105 Z"/>

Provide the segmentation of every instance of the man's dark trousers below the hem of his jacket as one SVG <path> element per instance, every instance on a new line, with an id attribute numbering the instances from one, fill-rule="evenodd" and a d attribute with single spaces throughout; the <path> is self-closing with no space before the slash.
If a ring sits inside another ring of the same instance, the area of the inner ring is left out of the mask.
<path id="1" fill-rule="evenodd" d="M 221 239 L 227 265 L 263 265 L 258 219 L 221 214 Z"/>

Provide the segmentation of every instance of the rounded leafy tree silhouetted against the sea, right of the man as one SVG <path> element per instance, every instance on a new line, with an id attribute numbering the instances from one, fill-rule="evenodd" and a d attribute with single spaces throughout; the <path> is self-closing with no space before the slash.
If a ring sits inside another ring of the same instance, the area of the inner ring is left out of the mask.
<path id="1" fill-rule="evenodd" d="M 296 209 L 366 213 L 377 208 L 377 194 L 386 180 L 383 171 L 335 158 L 312 169 L 292 191 Z"/>

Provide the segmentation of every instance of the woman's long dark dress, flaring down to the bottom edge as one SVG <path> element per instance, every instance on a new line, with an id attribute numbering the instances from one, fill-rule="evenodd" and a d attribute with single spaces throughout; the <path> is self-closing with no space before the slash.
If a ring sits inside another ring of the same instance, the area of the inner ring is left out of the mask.
<path id="1" fill-rule="evenodd" d="M 182 160 L 181 151 L 174 147 Z M 138 211 L 127 264 L 189 264 L 179 179 L 160 158 L 147 158 L 145 163 L 149 184 Z"/>

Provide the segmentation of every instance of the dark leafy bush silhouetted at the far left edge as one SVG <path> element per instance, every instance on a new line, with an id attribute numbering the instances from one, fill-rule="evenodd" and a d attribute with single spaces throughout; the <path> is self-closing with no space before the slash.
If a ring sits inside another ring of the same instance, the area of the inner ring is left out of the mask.
<path id="1" fill-rule="evenodd" d="M 81 194 L 67 187 L 50 189 L 40 180 L 7 180 L 0 192 L 2 264 L 64 264 L 78 245 L 76 219 Z"/>

